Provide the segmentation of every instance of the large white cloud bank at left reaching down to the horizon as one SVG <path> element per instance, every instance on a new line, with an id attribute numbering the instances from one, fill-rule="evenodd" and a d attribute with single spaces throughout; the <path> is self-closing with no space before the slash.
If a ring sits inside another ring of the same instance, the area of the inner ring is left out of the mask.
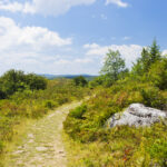
<path id="1" fill-rule="evenodd" d="M 72 39 L 0 17 L 0 75 L 13 68 L 37 73 L 96 73 L 94 58 L 72 50 Z M 75 53 L 73 53 L 75 52 Z"/>

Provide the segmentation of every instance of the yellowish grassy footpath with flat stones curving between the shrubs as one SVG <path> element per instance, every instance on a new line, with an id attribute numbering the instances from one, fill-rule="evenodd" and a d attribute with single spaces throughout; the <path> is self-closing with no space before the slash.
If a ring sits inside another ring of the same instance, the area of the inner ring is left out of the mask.
<path id="1" fill-rule="evenodd" d="M 3 165 L 6 167 L 26 165 L 55 166 L 56 163 L 61 163 L 61 165 L 66 163 L 66 159 L 57 154 L 58 150 L 63 149 L 61 124 L 68 110 L 78 105 L 80 105 L 78 101 L 63 105 L 57 110 L 50 111 L 43 118 L 38 120 L 27 119 L 22 125 L 16 127 L 18 132 L 13 136 L 12 143 L 9 143 L 8 147 L 6 147 L 7 154 L 2 160 Z M 32 143 L 30 143 L 31 139 Z M 45 149 L 41 150 L 42 148 Z M 20 150 L 21 153 L 19 154 L 18 151 Z M 46 159 L 48 160 L 46 161 Z"/>

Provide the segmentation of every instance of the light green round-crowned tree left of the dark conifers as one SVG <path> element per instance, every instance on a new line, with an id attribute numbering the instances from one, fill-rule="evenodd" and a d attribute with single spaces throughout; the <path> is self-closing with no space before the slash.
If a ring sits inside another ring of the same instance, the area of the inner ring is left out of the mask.
<path id="1" fill-rule="evenodd" d="M 101 75 L 107 75 L 114 81 L 118 79 L 120 72 L 125 70 L 125 60 L 120 57 L 119 51 L 108 50 Z"/>

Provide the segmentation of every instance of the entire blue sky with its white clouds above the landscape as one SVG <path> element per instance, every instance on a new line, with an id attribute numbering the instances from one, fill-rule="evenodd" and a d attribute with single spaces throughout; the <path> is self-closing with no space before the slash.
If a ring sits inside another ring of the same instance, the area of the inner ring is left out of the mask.
<path id="1" fill-rule="evenodd" d="M 166 0 L 0 0 L 0 75 L 97 75 L 107 50 L 127 67 L 157 39 L 167 53 Z"/>

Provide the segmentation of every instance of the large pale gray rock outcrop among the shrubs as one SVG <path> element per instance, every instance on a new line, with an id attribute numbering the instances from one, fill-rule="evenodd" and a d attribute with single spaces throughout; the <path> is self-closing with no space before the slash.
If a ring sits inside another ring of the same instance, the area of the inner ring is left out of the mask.
<path id="1" fill-rule="evenodd" d="M 167 118 L 167 112 L 145 107 L 141 104 L 132 104 L 124 112 L 115 114 L 108 121 L 108 126 L 135 126 L 135 127 L 145 127 L 150 126 L 160 120 Z"/>

